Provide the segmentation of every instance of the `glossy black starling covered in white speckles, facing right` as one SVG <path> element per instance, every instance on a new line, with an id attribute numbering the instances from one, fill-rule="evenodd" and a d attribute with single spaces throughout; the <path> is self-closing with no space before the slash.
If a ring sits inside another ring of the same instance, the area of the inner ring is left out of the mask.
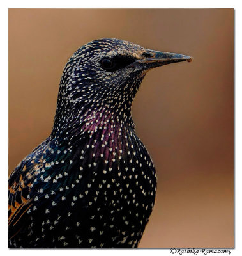
<path id="1" fill-rule="evenodd" d="M 116 38 L 72 55 L 50 136 L 8 180 L 9 248 L 137 248 L 157 181 L 132 102 L 147 71 L 192 60 Z"/>

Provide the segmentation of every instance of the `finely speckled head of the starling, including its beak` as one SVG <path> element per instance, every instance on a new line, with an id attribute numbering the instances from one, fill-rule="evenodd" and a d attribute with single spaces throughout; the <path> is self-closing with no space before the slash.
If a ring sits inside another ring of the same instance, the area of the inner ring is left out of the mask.
<path id="1" fill-rule="evenodd" d="M 89 42 L 64 67 L 55 119 L 66 119 L 67 113 L 77 116 L 85 109 L 108 110 L 127 118 L 148 70 L 192 60 L 190 56 L 153 51 L 123 40 Z"/>

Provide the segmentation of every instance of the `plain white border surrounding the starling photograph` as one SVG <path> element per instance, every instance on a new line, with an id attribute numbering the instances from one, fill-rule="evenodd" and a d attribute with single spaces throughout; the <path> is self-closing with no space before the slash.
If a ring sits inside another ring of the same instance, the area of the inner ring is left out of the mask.
<path id="1" fill-rule="evenodd" d="M 169 249 L 138 249 L 138 250 L 9 250 L 7 248 L 7 169 L 8 169 L 8 8 L 234 8 L 235 9 L 235 132 L 236 132 L 236 141 L 235 141 L 235 249 L 232 250 L 231 255 L 242 255 L 242 237 L 241 237 L 241 223 L 242 223 L 242 207 L 241 207 L 241 142 L 242 142 L 242 83 L 241 83 L 241 60 L 242 60 L 242 40 L 241 40 L 241 20 L 242 20 L 242 10 L 241 3 L 242 1 L 234 0 L 234 1 L 157 1 L 157 0 L 149 0 L 149 1 L 1 1 L 1 33 L 4 35 L 1 38 L 1 253 L 3 255 L 14 255 L 17 253 L 18 255 L 32 255 L 33 253 L 37 255 L 42 255 L 45 253 L 46 255 L 50 255 L 50 253 L 58 253 L 58 255 L 65 255 L 66 253 L 72 253 L 72 255 L 93 255 L 94 253 L 113 255 L 114 253 L 119 256 L 123 253 L 132 253 L 139 255 L 144 255 L 147 253 L 153 253 L 155 255 L 171 255 Z M 193 255 L 193 254 L 192 254 Z M 199 255 L 201 255 L 199 253 Z M 211 255 L 211 254 L 210 254 Z"/>

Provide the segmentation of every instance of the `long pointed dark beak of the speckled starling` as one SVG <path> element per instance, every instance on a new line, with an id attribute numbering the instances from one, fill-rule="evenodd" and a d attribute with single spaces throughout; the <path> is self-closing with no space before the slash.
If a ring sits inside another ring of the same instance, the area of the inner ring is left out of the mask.
<path id="1" fill-rule="evenodd" d="M 160 67 L 170 63 L 181 62 L 181 61 L 193 61 L 193 58 L 190 56 L 171 53 L 171 52 L 158 52 L 148 50 L 144 52 L 142 59 L 134 61 L 130 66 L 135 70 L 149 70 L 151 68 Z"/>

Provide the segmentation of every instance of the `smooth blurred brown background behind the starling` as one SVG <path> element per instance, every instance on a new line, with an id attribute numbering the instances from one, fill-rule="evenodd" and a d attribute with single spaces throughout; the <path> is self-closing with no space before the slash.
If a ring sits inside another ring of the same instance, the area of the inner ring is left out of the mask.
<path id="1" fill-rule="evenodd" d="M 9 171 L 49 136 L 68 58 L 103 37 L 195 59 L 151 70 L 133 103 L 158 173 L 139 247 L 234 246 L 232 9 L 10 9 Z"/>

